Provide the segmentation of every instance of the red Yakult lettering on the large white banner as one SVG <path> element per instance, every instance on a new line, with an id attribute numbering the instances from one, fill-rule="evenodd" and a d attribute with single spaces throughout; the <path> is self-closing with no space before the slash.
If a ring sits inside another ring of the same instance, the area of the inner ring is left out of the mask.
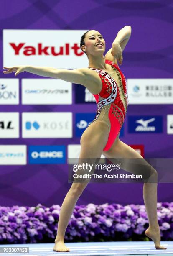
<path id="1" fill-rule="evenodd" d="M 36 47 L 32 45 L 26 45 L 25 43 L 9 44 L 12 47 L 15 55 L 59 56 L 70 55 L 70 50 L 72 50 L 76 56 L 81 56 L 84 54 L 84 52 L 81 51 L 80 46 L 77 43 L 74 43 L 73 45 L 66 43 L 63 46 L 44 46 L 42 43 L 38 43 Z"/>

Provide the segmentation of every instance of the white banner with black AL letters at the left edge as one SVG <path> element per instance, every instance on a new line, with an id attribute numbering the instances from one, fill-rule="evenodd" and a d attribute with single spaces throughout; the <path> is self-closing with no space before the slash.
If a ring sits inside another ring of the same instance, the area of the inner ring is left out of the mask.
<path id="1" fill-rule="evenodd" d="M 19 138 L 18 112 L 0 112 L 0 138 Z"/>

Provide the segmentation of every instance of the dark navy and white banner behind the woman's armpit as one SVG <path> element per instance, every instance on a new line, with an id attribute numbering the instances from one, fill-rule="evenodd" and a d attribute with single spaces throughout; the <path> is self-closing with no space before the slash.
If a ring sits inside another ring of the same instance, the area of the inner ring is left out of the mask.
<path id="1" fill-rule="evenodd" d="M 75 84 L 75 103 L 95 103 L 96 100 L 91 92 L 84 86 Z"/>

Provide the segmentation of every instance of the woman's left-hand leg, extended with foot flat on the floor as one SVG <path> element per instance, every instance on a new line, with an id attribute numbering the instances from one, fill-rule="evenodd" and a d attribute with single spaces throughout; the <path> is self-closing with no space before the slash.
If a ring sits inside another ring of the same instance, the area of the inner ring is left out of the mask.
<path id="1" fill-rule="evenodd" d="M 104 122 L 94 122 L 89 125 L 81 136 L 81 152 L 79 163 L 82 159 L 99 159 L 109 136 L 108 126 Z M 81 159 L 81 160 L 80 160 Z M 61 206 L 58 231 L 53 251 L 69 251 L 64 245 L 64 236 L 77 200 L 88 183 L 73 183 Z"/>

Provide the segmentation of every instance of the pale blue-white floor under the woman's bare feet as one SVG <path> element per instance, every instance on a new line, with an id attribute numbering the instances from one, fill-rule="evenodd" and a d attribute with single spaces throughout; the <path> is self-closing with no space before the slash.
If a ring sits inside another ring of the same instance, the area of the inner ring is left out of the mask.
<path id="1" fill-rule="evenodd" d="M 53 243 L 38 243 L 38 244 L 15 244 L 15 245 L 0 245 L 0 247 L 29 247 L 27 253 L 10 253 L 10 256 L 90 256 L 90 255 L 169 255 L 173 256 L 173 241 L 163 241 L 162 246 L 167 247 L 166 250 L 156 250 L 154 243 L 149 242 L 85 242 L 85 243 L 66 243 L 70 248 L 70 252 L 55 252 L 53 251 Z M 7 253 L 0 255 L 7 255 Z"/>

